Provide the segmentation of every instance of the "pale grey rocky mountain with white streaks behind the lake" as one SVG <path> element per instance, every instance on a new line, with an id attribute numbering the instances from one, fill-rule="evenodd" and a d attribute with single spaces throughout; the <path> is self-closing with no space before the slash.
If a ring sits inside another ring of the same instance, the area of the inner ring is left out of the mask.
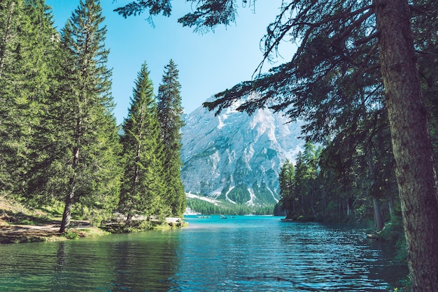
<path id="1" fill-rule="evenodd" d="M 237 112 L 239 104 L 215 116 L 206 108 L 185 115 L 181 179 L 185 192 L 233 204 L 278 202 L 278 173 L 293 161 L 304 141 L 300 124 L 267 108 L 253 115 Z"/>

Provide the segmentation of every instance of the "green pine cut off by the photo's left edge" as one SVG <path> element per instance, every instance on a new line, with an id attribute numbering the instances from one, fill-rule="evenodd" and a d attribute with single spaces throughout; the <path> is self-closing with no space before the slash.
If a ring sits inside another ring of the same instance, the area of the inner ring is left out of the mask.
<path id="1" fill-rule="evenodd" d="M 20 134 L 19 111 L 20 104 L 27 104 L 27 100 L 22 100 L 18 92 L 24 80 L 15 62 L 24 43 L 19 31 L 23 5 L 23 1 L 0 2 L 0 187 L 3 194 L 16 193 L 14 177 L 22 177 L 24 172 L 22 159 L 26 150 Z"/>

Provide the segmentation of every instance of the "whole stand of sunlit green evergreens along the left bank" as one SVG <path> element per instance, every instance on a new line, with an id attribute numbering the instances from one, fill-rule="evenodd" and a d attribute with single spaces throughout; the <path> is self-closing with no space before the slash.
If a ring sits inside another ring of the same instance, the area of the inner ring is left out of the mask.
<path id="1" fill-rule="evenodd" d="M 99 224 L 117 211 L 181 216 L 181 85 L 174 61 L 158 95 L 139 64 L 116 124 L 99 1 L 81 0 L 58 32 L 44 0 L 0 2 L 0 192 Z M 121 133 L 121 134 L 120 134 Z"/>

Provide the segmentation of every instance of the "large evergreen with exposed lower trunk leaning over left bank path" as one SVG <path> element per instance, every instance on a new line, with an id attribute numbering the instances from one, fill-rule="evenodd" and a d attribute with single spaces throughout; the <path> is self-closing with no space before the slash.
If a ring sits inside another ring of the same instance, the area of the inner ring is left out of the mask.
<path id="1" fill-rule="evenodd" d="M 92 210 L 112 210 L 118 203 L 120 166 L 117 126 L 111 111 L 111 70 L 106 68 L 109 51 L 104 48 L 99 1 L 80 1 L 62 30 L 63 70 L 59 95 L 60 126 L 64 153 L 56 163 L 55 185 L 64 194 L 65 207 L 60 232 L 70 224 L 73 203 Z"/>

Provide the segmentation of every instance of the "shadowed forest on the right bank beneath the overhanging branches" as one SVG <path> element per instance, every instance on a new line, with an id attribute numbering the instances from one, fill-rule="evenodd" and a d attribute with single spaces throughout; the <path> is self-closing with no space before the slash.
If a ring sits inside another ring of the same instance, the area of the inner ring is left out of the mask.
<path id="1" fill-rule="evenodd" d="M 400 207 L 395 203 L 397 187 L 394 173 L 379 173 L 382 178 L 375 180 L 382 185 L 379 185 L 378 189 L 374 186 L 374 189 L 370 190 L 369 168 L 361 167 L 363 157 L 360 149 L 353 152 L 348 166 L 344 165 L 343 168 L 336 166 L 336 163 L 342 161 L 331 152 L 333 149 L 317 148 L 307 142 L 304 152 L 297 154 L 295 166 L 290 161 L 283 164 L 279 176 L 279 204 L 286 211 L 286 217 L 367 224 L 369 220 L 375 219 L 374 200 L 379 196 L 381 209 L 377 211 L 381 212 L 382 220 L 390 221 L 395 216 L 395 209 Z M 341 151 L 338 147 L 336 149 Z M 383 162 L 383 158 L 378 159 L 379 163 Z M 391 175 L 392 182 L 388 180 Z M 380 194 L 381 191 L 386 191 L 386 196 Z M 377 231 L 379 229 L 376 228 Z M 402 234 L 401 229 L 395 232 Z M 394 242 L 396 241 L 394 239 Z"/>

